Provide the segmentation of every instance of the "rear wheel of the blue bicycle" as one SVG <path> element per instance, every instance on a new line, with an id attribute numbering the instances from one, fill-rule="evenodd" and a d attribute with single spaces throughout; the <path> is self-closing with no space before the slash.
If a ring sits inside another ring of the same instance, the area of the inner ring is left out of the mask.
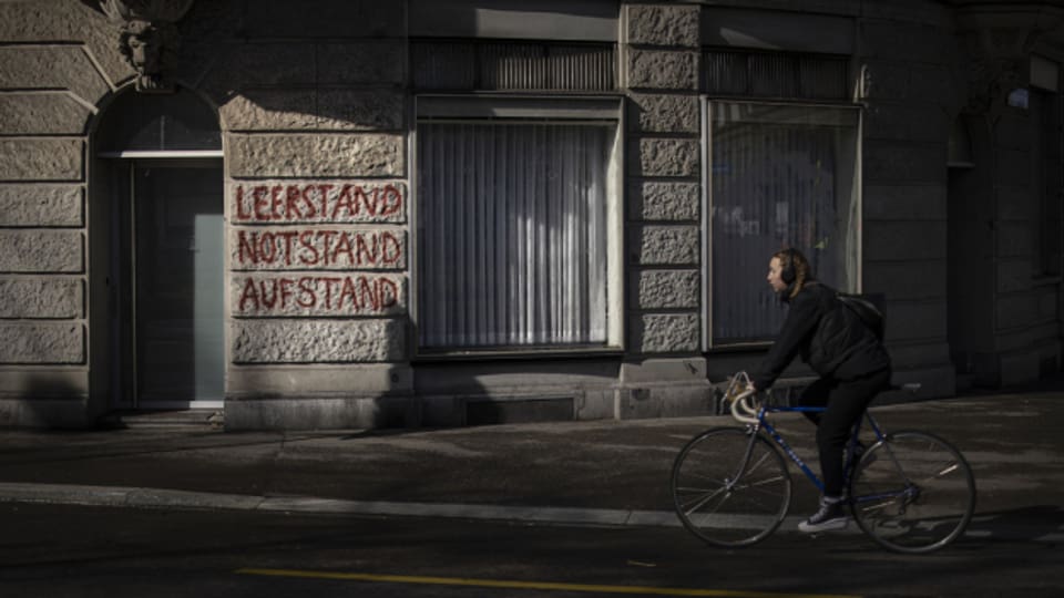
<path id="1" fill-rule="evenodd" d="M 880 546 L 925 554 L 964 533 L 975 512 L 975 477 L 949 442 L 900 431 L 862 455 L 849 501 L 857 524 Z"/>

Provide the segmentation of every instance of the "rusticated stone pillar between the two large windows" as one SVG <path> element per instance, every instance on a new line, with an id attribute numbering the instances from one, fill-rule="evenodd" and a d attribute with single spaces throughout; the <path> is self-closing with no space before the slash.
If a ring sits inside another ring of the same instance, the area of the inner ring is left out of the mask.
<path id="1" fill-rule="evenodd" d="M 699 6 L 623 7 L 628 359 L 620 417 L 705 412 Z"/>

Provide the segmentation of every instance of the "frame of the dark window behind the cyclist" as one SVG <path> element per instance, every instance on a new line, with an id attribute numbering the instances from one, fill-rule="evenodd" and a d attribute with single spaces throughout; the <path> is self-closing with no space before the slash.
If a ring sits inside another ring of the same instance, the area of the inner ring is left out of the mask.
<path id="1" fill-rule="evenodd" d="M 857 116 L 857 126 L 855 128 L 855 152 L 853 152 L 853 209 L 856 212 L 857 230 L 851 231 L 855 247 L 855 270 L 853 280 L 849 289 L 840 289 L 847 292 L 863 292 L 864 279 L 864 177 L 863 177 L 863 126 L 864 107 L 860 104 L 842 102 L 825 102 L 816 100 L 794 100 L 785 101 L 777 99 L 759 97 L 734 97 L 703 94 L 699 97 L 699 117 L 702 120 L 700 132 L 700 158 L 702 158 L 702 350 L 704 353 L 713 352 L 734 352 L 745 350 L 765 350 L 773 344 L 773 340 L 764 341 L 735 341 L 717 342 L 713 336 L 713 118 L 710 107 L 714 103 L 727 104 L 759 104 L 759 105 L 782 105 L 796 109 L 831 109 L 831 110 L 852 110 Z M 767 258 L 768 256 L 766 256 Z M 767 268 L 767 266 L 766 266 Z M 751 275 L 753 276 L 753 275 Z"/>

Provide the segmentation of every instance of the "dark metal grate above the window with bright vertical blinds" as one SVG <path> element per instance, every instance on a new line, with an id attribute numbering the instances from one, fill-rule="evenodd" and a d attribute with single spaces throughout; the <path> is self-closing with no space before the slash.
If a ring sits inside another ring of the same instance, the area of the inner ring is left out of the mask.
<path id="1" fill-rule="evenodd" d="M 613 44 L 418 41 L 411 49 L 419 91 L 612 91 Z"/>

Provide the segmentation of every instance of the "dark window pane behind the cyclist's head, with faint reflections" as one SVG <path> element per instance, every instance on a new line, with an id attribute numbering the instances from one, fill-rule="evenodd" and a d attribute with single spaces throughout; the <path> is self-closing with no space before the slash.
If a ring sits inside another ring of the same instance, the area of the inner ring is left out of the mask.
<path id="1" fill-rule="evenodd" d="M 713 342 L 768 340 L 786 317 L 765 280 L 775 251 L 856 290 L 858 112 L 715 102 L 708 117 Z"/>

